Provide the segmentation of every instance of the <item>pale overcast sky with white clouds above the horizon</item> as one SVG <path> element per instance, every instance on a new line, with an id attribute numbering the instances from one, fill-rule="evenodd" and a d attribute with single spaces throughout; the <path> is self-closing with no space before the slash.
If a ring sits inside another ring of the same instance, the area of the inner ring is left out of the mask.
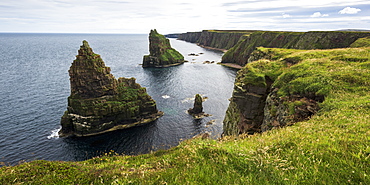
<path id="1" fill-rule="evenodd" d="M 370 29 L 370 0 L 0 0 L 0 32 Z"/>

